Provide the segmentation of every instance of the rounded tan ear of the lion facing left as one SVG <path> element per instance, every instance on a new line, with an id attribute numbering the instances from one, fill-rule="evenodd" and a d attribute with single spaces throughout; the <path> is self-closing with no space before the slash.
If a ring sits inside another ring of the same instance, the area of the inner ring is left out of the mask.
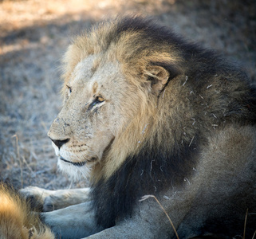
<path id="1" fill-rule="evenodd" d="M 162 91 L 169 80 L 170 73 L 160 65 L 150 65 L 145 71 L 148 80 L 151 81 L 152 92 L 157 95 Z"/>

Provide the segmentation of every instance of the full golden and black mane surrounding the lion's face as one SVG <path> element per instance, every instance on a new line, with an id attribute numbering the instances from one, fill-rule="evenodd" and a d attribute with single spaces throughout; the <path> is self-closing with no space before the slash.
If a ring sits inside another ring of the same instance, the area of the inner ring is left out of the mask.
<path id="1" fill-rule="evenodd" d="M 138 17 L 107 22 L 77 37 L 65 56 L 64 78 L 69 79 L 81 59 L 105 52 L 120 62 L 124 76 L 138 88 L 148 80 L 154 85 L 150 76 L 141 77 L 148 65 L 159 65 L 170 75 L 157 105 L 141 89 L 141 114 L 115 139 L 92 175 L 96 218 L 108 228 L 116 218 L 131 215 L 144 194 L 182 183 L 215 128 L 254 124 L 256 93 L 246 73 L 215 51 Z M 132 104 L 137 103 L 127 107 Z"/>

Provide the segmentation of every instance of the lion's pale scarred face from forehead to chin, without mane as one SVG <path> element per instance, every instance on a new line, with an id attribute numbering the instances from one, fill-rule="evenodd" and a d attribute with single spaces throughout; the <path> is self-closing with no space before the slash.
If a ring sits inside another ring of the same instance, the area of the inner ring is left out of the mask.
<path id="1" fill-rule="evenodd" d="M 122 91 L 129 88 L 124 76 L 113 63 L 93 69 L 95 61 L 95 56 L 85 58 L 65 82 L 64 106 L 48 133 L 58 167 L 74 179 L 89 176 L 132 118 L 132 112 L 124 111 L 127 107 L 122 105 L 129 104 L 122 98 Z"/>

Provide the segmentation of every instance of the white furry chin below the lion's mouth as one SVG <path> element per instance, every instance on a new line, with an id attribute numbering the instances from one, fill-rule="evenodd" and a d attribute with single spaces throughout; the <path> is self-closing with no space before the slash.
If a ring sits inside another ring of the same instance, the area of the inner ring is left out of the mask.
<path id="1" fill-rule="evenodd" d="M 81 178 L 89 178 L 90 167 L 87 163 L 73 163 L 61 157 L 57 160 L 57 167 L 61 173 L 67 174 L 73 181 L 78 181 Z"/>

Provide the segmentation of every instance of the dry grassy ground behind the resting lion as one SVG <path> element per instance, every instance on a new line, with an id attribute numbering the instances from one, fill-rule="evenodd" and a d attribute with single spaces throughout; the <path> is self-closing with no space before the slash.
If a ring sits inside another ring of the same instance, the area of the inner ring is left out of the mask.
<path id="1" fill-rule="evenodd" d="M 47 137 L 61 108 L 60 59 L 74 34 L 117 14 L 154 16 L 217 49 L 256 79 L 250 0 L 0 0 L 0 177 L 18 188 L 80 187 L 57 170 Z"/>

